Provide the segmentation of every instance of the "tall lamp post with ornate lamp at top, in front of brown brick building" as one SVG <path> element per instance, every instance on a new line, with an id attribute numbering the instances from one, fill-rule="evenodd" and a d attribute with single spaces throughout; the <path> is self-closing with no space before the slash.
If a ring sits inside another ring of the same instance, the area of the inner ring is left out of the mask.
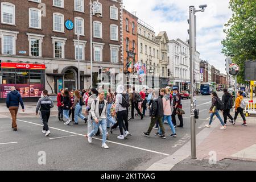
<path id="1" fill-rule="evenodd" d="M 94 6 L 96 6 L 96 11 L 94 12 Z M 96 15 L 97 17 L 100 17 L 101 11 L 100 11 L 100 6 L 98 5 L 98 0 L 93 1 L 90 0 L 90 84 L 91 88 L 93 86 L 93 43 L 92 43 L 92 16 Z"/>

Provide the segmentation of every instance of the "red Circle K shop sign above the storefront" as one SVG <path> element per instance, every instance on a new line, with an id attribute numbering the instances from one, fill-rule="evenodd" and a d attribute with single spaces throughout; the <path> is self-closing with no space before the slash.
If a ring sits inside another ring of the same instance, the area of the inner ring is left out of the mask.
<path id="1" fill-rule="evenodd" d="M 44 64 L 27 64 L 27 63 L 2 63 L 2 68 L 46 69 L 46 65 L 44 65 Z"/>

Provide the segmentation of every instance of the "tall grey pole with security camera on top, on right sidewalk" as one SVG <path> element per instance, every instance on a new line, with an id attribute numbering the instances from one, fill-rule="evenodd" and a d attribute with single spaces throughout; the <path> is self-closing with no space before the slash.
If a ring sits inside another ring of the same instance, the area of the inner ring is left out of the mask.
<path id="1" fill-rule="evenodd" d="M 204 12 L 207 5 L 200 5 L 200 10 L 196 10 L 195 6 L 189 6 L 189 55 L 190 55 L 190 90 L 191 90 L 191 159 L 196 159 L 196 117 L 199 111 L 196 110 L 196 98 L 194 96 L 195 82 L 193 79 L 193 66 L 196 51 L 196 13 Z M 196 117 L 195 117 L 196 116 Z"/>

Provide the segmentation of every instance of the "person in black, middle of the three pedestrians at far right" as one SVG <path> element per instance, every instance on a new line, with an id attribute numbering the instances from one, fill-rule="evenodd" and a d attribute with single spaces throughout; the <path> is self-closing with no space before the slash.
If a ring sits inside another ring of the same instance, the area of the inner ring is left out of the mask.
<path id="1" fill-rule="evenodd" d="M 222 102 L 224 104 L 223 117 L 224 117 L 224 123 L 226 125 L 226 121 L 228 117 L 229 119 L 231 119 L 230 123 L 233 123 L 234 121 L 232 115 L 230 115 L 230 109 L 232 109 L 233 107 L 233 98 L 227 89 L 224 89 L 223 92 L 224 92 L 222 96 Z"/>

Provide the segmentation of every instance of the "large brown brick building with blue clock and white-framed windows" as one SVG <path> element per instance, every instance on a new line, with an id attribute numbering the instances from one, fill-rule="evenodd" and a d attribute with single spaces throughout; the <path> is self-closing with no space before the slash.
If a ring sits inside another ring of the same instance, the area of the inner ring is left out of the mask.
<path id="1" fill-rule="evenodd" d="M 101 16 L 92 17 L 93 86 L 99 81 L 99 69 L 103 72 L 110 68 L 110 63 L 112 73 L 119 73 L 123 57 L 122 1 L 98 2 Z M 2 0 L 0 59 L 6 67 L 2 69 L 1 84 L 22 88 L 41 84 L 35 88 L 46 88 L 49 93 L 57 93 L 62 87 L 78 88 L 77 60 L 80 59 L 80 89 L 89 88 L 92 85 L 89 3 L 89 0 Z M 19 64 L 18 68 L 22 63 L 27 67 L 39 64 L 46 69 L 34 68 L 36 74 L 31 75 L 30 69 L 17 69 L 10 63 Z"/>

